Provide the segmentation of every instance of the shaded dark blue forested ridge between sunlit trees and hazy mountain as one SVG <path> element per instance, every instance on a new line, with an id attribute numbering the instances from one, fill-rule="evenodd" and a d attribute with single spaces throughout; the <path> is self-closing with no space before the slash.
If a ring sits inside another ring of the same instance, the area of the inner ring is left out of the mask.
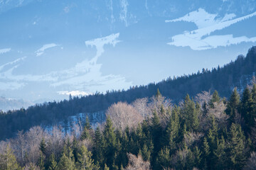
<path id="1" fill-rule="evenodd" d="M 151 97 L 159 89 L 163 96 L 173 103 L 181 101 L 189 94 L 196 96 L 201 91 L 219 91 L 220 96 L 229 97 L 233 88 L 244 89 L 256 70 L 256 47 L 252 47 L 246 57 L 239 56 L 235 62 L 224 67 L 203 69 L 196 74 L 168 78 L 157 84 L 131 87 L 127 91 L 107 91 L 105 94 L 96 93 L 85 97 L 75 97 L 60 102 L 48 102 L 21 108 L 18 111 L 0 113 L 0 139 L 13 137 L 18 130 L 28 130 L 35 125 L 55 125 L 76 113 L 95 113 L 105 111 L 112 103 L 126 101 L 132 103 L 137 98 Z"/>

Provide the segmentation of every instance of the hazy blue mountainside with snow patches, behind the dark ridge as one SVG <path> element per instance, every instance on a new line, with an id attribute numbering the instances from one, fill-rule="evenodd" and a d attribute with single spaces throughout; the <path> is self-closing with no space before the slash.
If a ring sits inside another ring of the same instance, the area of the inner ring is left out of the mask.
<path id="1" fill-rule="evenodd" d="M 0 0 L 0 96 L 42 102 L 223 66 L 256 1 Z"/>

